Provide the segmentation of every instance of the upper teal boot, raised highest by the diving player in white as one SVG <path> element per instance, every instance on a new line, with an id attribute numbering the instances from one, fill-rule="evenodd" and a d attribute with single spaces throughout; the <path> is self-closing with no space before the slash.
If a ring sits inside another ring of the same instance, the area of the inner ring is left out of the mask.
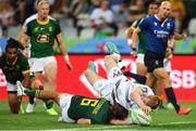
<path id="1" fill-rule="evenodd" d="M 107 47 L 107 49 L 108 49 L 108 51 L 109 51 L 110 54 L 118 55 L 119 62 L 122 61 L 121 54 L 120 54 L 120 52 L 119 52 L 119 50 L 118 50 L 118 48 L 115 47 L 114 43 L 112 43 L 112 42 L 106 42 L 106 47 Z"/>

